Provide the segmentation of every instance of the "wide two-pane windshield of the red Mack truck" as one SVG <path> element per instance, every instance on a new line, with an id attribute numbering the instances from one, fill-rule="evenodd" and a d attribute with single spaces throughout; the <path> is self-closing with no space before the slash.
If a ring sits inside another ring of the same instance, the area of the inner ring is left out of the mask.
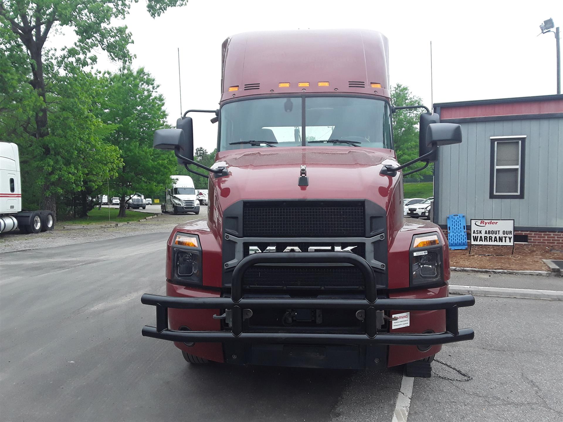
<path id="1" fill-rule="evenodd" d="M 355 144 L 392 148 L 390 106 L 378 99 L 323 96 L 241 100 L 225 104 L 220 114 L 220 150 L 269 148 L 245 141 L 263 141 L 270 146 L 350 148 Z"/>

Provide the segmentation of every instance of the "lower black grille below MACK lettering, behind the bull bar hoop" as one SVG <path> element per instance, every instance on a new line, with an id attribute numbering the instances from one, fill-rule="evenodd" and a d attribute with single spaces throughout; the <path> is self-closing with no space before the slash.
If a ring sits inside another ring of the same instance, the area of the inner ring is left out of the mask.
<path id="1" fill-rule="evenodd" d="M 245 271 L 243 286 L 247 290 L 361 290 L 364 288 L 364 277 L 355 266 L 254 265 Z"/>

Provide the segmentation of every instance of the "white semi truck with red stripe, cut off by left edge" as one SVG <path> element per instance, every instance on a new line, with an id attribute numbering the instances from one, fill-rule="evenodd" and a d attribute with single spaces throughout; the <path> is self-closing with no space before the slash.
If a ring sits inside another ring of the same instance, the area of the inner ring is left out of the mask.
<path id="1" fill-rule="evenodd" d="M 51 211 L 21 211 L 20 156 L 16 144 L 0 142 L 0 233 L 39 233 L 55 227 Z"/>

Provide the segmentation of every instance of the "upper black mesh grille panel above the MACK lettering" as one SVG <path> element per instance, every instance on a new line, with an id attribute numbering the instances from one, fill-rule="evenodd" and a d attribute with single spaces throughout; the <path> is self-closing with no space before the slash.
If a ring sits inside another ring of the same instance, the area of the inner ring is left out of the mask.
<path id="1" fill-rule="evenodd" d="M 363 237 L 363 202 L 342 205 L 245 203 L 245 237 Z"/>

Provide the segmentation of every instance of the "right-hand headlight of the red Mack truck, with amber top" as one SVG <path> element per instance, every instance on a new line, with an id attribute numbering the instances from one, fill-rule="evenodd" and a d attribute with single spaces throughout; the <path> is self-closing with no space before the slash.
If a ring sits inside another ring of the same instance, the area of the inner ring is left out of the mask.
<path id="1" fill-rule="evenodd" d="M 411 287 L 443 282 L 442 245 L 437 233 L 415 236 L 409 255 Z"/>

